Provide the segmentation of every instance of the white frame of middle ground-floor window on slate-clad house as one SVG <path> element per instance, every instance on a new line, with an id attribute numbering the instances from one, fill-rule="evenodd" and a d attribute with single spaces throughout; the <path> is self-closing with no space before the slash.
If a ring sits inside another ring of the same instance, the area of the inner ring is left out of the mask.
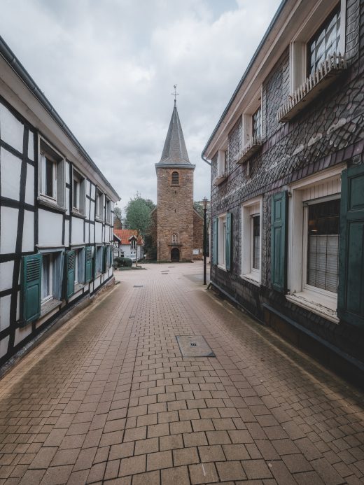
<path id="1" fill-rule="evenodd" d="M 260 269 L 253 268 L 253 217 L 260 217 Z M 241 278 L 260 285 L 262 281 L 262 197 L 241 205 Z"/>

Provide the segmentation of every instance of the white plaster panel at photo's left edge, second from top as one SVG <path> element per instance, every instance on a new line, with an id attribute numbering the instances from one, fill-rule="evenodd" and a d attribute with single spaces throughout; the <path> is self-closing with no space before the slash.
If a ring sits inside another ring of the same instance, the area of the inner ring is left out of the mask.
<path id="1" fill-rule="evenodd" d="M 20 171 L 22 160 L 15 157 L 4 148 L 0 148 L 1 163 L 1 195 L 10 199 L 19 200 Z"/>

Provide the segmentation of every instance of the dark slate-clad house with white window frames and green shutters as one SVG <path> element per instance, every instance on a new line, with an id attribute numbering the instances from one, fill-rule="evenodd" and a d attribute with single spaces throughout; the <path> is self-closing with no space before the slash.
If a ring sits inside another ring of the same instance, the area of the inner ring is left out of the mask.
<path id="1" fill-rule="evenodd" d="M 354 377 L 364 370 L 363 41 L 363 1 L 283 1 L 202 153 L 212 285 Z"/>

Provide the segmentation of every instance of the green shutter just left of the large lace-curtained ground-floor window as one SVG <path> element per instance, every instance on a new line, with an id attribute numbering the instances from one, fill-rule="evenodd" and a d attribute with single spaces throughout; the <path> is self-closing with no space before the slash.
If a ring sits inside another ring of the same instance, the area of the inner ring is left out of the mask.
<path id="1" fill-rule="evenodd" d="M 286 291 L 286 253 L 287 253 L 287 192 L 272 196 L 271 242 L 271 282 L 274 290 Z"/>

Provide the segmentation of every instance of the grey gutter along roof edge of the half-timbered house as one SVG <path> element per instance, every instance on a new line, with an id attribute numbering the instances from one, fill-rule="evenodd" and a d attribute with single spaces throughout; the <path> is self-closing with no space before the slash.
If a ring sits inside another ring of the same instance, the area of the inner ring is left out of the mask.
<path id="1" fill-rule="evenodd" d="M 46 111 L 52 116 L 53 120 L 57 123 L 57 125 L 62 129 L 62 131 L 66 134 L 66 136 L 71 139 L 73 142 L 74 146 L 80 151 L 81 155 L 87 160 L 87 162 L 90 164 L 92 169 L 99 174 L 99 176 L 102 178 L 102 181 L 104 181 L 105 185 L 113 192 L 113 195 L 120 200 L 120 196 L 116 192 L 116 190 L 111 186 L 109 181 L 106 180 L 104 174 L 102 174 L 102 171 L 100 171 L 99 167 L 94 163 L 90 155 L 85 151 L 85 148 L 81 146 L 80 142 L 78 139 L 76 139 L 76 136 L 73 135 L 69 127 L 66 125 L 66 123 L 62 120 L 62 118 L 59 116 L 57 111 L 55 111 L 55 108 L 53 108 L 52 104 L 48 101 L 48 99 L 44 96 L 43 92 L 39 89 L 39 87 L 36 85 L 34 82 L 33 78 L 29 75 L 29 73 L 26 71 L 25 67 L 22 65 L 22 63 L 19 61 L 17 57 L 15 57 L 15 54 L 13 51 L 9 48 L 9 46 L 6 44 L 6 42 L 3 40 L 3 38 L 0 36 L 0 55 L 8 62 L 8 64 L 12 67 L 13 71 L 18 74 L 20 79 L 22 80 L 23 83 L 27 86 L 29 91 L 34 95 L 34 97 L 41 103 L 43 108 L 45 108 Z"/>

